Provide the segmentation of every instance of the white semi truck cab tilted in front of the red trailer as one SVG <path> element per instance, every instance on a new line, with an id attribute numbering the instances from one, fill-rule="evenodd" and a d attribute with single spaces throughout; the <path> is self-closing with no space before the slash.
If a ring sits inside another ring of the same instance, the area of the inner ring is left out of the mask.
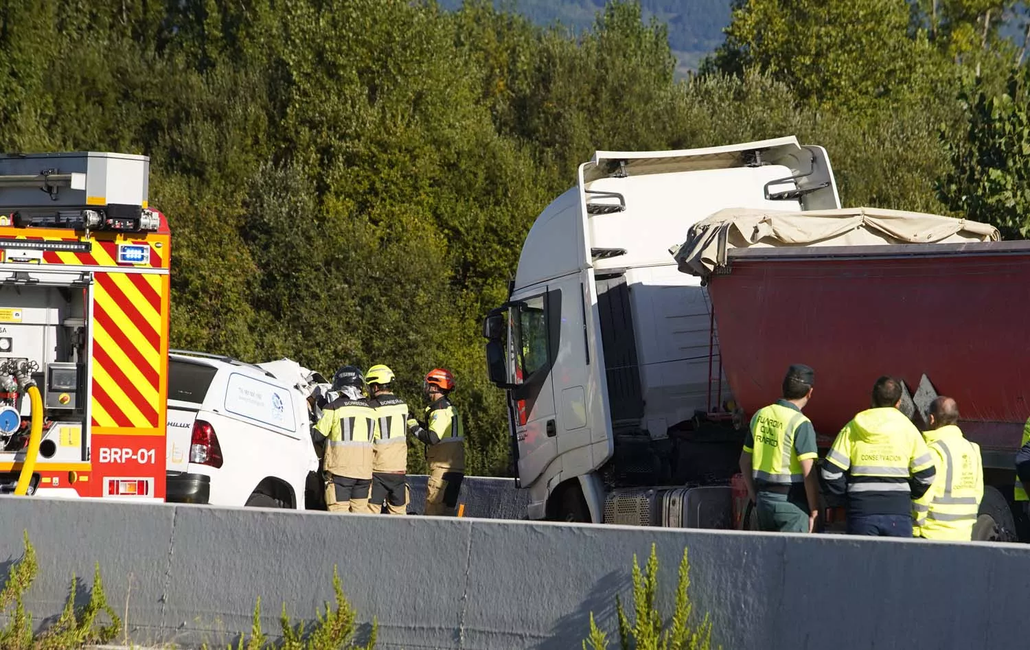
<path id="1" fill-rule="evenodd" d="M 708 293 L 670 248 L 730 207 L 839 208 L 826 151 L 597 151 L 537 217 L 483 323 L 530 519 L 727 526 L 741 422 Z"/>

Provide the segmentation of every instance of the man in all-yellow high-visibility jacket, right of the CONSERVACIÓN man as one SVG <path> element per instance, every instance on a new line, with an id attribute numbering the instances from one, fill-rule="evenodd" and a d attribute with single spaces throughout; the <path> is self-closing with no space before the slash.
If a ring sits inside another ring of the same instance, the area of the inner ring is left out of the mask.
<path id="1" fill-rule="evenodd" d="M 984 465 L 980 445 L 958 427 L 959 406 L 939 397 L 930 404 L 930 431 L 923 434 L 937 478 L 913 502 L 913 534 L 927 540 L 968 542 L 984 499 Z"/>

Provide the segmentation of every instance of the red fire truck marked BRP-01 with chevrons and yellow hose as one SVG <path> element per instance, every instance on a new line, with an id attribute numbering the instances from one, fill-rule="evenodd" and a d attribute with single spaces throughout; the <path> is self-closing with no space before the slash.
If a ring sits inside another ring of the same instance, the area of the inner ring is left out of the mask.
<path id="1" fill-rule="evenodd" d="M 170 233 L 149 159 L 0 156 L 0 493 L 164 501 Z"/>

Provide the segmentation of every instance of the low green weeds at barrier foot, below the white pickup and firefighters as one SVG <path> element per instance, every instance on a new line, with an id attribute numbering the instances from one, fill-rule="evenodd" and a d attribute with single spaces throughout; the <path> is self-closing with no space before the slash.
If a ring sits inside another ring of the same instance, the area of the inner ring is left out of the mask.
<path id="1" fill-rule="evenodd" d="M 372 619 L 372 630 L 369 643 L 364 646 L 354 645 L 354 627 L 357 622 L 357 612 L 343 594 L 343 585 L 336 567 L 333 567 L 333 590 L 336 593 L 336 609 L 329 603 L 325 611 L 317 613 L 315 621 L 300 621 L 294 623 L 286 613 L 286 604 L 282 604 L 282 614 L 279 625 L 282 628 L 282 640 L 276 645 L 270 645 L 261 627 L 261 597 L 254 605 L 253 622 L 250 625 L 250 638 L 240 637 L 235 650 L 373 650 L 376 636 L 379 631 L 378 621 Z M 208 650 L 207 645 L 202 650 Z M 229 646 L 228 650 L 234 650 Z"/>

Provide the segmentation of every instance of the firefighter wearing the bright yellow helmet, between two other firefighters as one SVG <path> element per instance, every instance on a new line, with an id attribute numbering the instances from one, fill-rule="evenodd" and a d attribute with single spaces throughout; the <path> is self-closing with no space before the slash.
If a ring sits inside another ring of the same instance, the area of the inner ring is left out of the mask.
<path id="1" fill-rule="evenodd" d="M 369 512 L 381 513 L 385 502 L 389 514 L 403 515 L 408 512 L 408 439 L 405 436 L 408 405 L 390 392 L 392 381 L 393 371 L 381 364 L 370 368 L 365 375 L 369 404 L 376 411 Z"/>

